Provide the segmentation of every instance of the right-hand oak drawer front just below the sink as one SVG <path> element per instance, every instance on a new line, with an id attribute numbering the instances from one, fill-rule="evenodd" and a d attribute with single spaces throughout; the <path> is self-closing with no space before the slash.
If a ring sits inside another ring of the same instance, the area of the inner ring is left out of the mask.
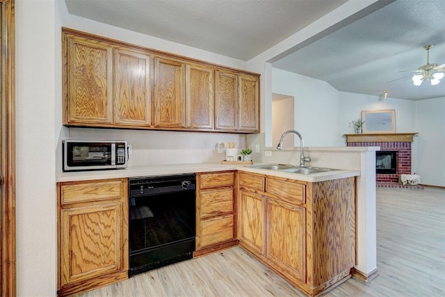
<path id="1" fill-rule="evenodd" d="M 278 199 L 289 203 L 306 202 L 305 185 L 289 182 L 275 177 L 267 177 L 266 193 L 274 194 Z"/>

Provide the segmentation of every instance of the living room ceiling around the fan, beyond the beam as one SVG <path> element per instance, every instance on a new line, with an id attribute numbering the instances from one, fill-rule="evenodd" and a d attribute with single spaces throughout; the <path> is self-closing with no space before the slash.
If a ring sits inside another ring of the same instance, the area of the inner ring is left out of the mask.
<path id="1" fill-rule="evenodd" d="M 445 97 L 437 86 L 412 84 L 426 64 L 445 63 L 445 1 L 398 0 L 273 63 L 273 67 L 327 81 L 337 90 L 400 99 Z M 396 80 L 396 81 L 393 81 Z M 388 83 L 388 81 L 391 81 Z"/>

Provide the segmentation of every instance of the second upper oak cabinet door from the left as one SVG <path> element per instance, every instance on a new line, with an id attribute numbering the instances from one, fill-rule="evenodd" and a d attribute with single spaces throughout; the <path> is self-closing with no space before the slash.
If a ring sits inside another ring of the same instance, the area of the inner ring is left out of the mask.
<path id="1" fill-rule="evenodd" d="M 145 127 L 152 124 L 150 59 L 143 53 L 115 49 L 115 124 Z"/>

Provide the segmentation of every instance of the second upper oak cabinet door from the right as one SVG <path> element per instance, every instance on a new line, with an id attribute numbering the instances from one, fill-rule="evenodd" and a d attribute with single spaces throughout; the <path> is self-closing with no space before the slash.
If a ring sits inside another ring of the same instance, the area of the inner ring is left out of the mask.
<path id="1" fill-rule="evenodd" d="M 236 74 L 215 72 L 215 129 L 238 129 L 238 77 Z"/>

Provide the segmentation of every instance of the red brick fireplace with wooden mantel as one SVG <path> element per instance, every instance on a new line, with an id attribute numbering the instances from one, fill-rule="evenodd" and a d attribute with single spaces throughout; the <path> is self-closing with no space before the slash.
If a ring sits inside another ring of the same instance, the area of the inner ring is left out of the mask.
<path id="1" fill-rule="evenodd" d="M 380 151 L 396 152 L 396 173 L 376 173 L 375 182 L 398 184 L 398 175 L 410 175 L 411 143 L 416 133 L 345 134 L 348 147 L 380 147 Z"/>

